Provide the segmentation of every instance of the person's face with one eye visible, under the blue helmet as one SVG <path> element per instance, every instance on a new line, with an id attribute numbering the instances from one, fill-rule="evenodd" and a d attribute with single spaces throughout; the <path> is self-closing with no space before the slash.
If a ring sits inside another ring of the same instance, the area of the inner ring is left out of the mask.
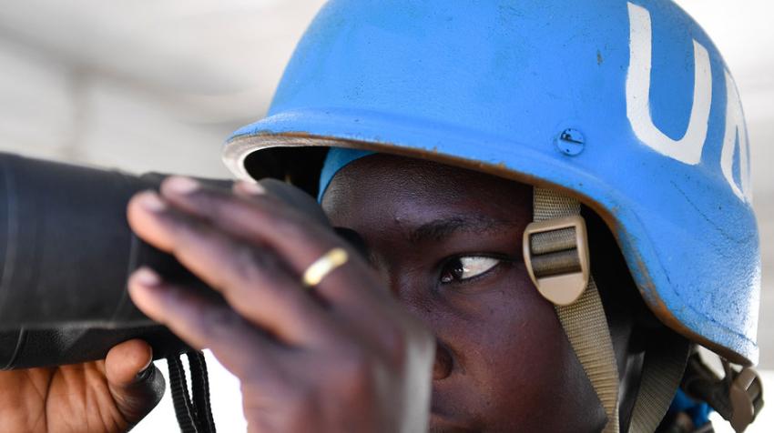
<path id="1" fill-rule="evenodd" d="M 433 329 L 433 431 L 599 431 L 605 414 L 524 267 L 532 189 L 399 156 L 341 169 L 323 207 Z"/>

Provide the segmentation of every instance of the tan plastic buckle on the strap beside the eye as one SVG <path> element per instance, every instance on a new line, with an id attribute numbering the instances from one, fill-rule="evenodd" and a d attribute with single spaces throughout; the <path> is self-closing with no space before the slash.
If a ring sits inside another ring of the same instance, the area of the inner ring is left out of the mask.
<path id="1" fill-rule="evenodd" d="M 523 247 L 527 272 L 543 297 L 566 306 L 586 290 L 590 265 L 583 217 L 534 222 L 524 229 Z"/>

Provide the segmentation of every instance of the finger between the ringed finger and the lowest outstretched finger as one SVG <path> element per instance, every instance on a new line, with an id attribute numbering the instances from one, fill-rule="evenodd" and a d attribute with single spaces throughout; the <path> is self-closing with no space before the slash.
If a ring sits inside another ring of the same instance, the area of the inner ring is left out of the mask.
<path id="1" fill-rule="evenodd" d="M 254 324 L 289 344 L 323 337 L 326 318 L 321 306 L 267 248 L 247 245 L 180 214 L 154 193 L 133 198 L 128 217 L 138 236 L 174 254 Z"/>

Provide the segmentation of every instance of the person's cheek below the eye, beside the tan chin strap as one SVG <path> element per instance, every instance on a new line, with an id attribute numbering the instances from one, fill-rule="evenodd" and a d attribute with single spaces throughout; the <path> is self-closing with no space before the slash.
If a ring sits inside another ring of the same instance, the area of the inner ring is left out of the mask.
<path id="1" fill-rule="evenodd" d="M 464 304 L 445 303 L 435 324 L 455 363 L 453 374 L 434 384 L 445 404 L 483 429 L 584 431 L 579 427 L 596 423 L 596 394 L 554 307 L 528 280 Z"/>

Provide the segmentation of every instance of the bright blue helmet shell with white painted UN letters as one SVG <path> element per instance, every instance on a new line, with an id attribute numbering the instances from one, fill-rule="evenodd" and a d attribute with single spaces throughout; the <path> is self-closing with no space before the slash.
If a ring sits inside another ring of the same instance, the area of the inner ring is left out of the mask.
<path id="1" fill-rule="evenodd" d="M 276 162 L 260 149 L 331 145 L 574 194 L 606 218 L 660 320 L 757 362 L 744 116 L 717 48 L 677 5 L 333 0 L 224 161 L 248 177 Z"/>

